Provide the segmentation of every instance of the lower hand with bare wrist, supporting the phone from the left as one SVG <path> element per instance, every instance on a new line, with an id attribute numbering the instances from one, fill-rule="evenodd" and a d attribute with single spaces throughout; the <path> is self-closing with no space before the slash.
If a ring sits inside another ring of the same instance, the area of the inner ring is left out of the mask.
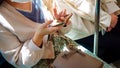
<path id="1" fill-rule="evenodd" d="M 61 29 L 61 26 L 59 27 L 49 27 L 49 25 L 52 23 L 52 21 L 47 21 L 43 24 L 38 25 L 37 30 L 33 36 L 33 42 L 37 45 L 37 46 L 41 46 L 43 37 L 45 35 L 48 35 L 50 33 L 56 32 L 59 29 Z"/>

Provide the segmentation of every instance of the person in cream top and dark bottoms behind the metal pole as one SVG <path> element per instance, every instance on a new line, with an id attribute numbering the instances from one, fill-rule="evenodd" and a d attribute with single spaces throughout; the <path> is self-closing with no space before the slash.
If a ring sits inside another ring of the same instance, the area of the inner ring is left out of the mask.
<path id="1" fill-rule="evenodd" d="M 73 13 L 72 29 L 66 34 L 93 51 L 96 0 L 56 0 L 60 9 Z M 120 8 L 116 0 L 101 0 L 98 56 L 111 63 L 120 59 Z"/>

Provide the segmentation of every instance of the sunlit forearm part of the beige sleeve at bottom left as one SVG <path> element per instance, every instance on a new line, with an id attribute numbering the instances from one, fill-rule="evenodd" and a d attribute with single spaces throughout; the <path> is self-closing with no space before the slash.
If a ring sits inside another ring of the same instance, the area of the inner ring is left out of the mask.
<path id="1" fill-rule="evenodd" d="M 31 68 L 40 61 L 44 47 L 37 47 L 32 40 L 28 40 L 15 49 L 4 51 L 3 57 L 17 68 Z"/>

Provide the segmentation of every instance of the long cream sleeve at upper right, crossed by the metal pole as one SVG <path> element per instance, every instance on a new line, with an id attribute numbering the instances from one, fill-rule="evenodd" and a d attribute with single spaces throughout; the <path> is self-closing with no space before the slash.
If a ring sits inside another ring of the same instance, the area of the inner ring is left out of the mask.
<path id="1" fill-rule="evenodd" d="M 66 8 L 69 12 L 73 12 L 81 18 L 95 22 L 95 5 L 93 5 L 92 2 L 94 1 L 88 2 L 87 0 L 82 0 L 82 2 L 79 3 L 79 0 L 69 2 L 58 0 L 60 8 Z M 106 30 L 106 27 L 108 27 L 110 23 L 111 16 L 100 9 L 100 26 Z"/>

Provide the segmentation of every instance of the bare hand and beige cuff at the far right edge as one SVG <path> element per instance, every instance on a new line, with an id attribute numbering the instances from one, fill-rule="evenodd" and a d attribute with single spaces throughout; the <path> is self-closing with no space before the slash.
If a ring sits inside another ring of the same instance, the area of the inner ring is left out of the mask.
<path id="1" fill-rule="evenodd" d="M 118 21 L 118 16 L 120 14 L 120 8 L 118 7 L 118 5 L 116 4 L 116 1 L 114 0 L 106 0 L 105 1 L 107 7 L 108 7 L 108 13 L 111 16 L 111 24 L 110 26 L 107 28 L 107 31 L 111 31 L 117 24 Z"/>

